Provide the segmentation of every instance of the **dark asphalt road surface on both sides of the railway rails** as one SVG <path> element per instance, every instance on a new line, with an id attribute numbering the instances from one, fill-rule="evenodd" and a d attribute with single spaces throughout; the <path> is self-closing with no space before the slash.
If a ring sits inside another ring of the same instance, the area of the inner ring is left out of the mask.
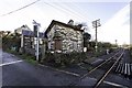
<path id="1" fill-rule="evenodd" d="M 69 86 L 72 82 L 78 84 L 78 86 L 92 86 L 97 80 L 95 77 L 87 76 L 78 82 L 79 77 L 30 64 L 12 54 L 3 52 L 0 56 L 2 56 L 2 64 L 0 64 L 2 86 Z M 125 54 L 124 58 L 125 56 L 128 55 Z M 131 81 L 111 74 L 103 82 L 113 87 L 117 85 L 130 86 Z"/>

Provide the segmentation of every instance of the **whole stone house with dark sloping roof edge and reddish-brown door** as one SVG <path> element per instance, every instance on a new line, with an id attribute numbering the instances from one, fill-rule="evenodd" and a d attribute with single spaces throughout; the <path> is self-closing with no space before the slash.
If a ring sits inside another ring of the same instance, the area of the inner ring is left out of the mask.
<path id="1" fill-rule="evenodd" d="M 57 53 L 82 52 L 82 33 L 81 25 L 74 25 L 73 20 L 67 24 L 53 20 L 45 31 L 47 50 Z"/>

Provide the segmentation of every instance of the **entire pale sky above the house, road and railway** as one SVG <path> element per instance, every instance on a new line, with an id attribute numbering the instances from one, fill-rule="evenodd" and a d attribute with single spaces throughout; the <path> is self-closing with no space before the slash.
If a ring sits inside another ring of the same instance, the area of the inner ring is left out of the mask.
<path id="1" fill-rule="evenodd" d="M 23 24 L 33 30 L 32 21 L 41 23 L 44 32 L 52 20 L 67 23 L 86 22 L 95 40 L 91 22 L 100 19 L 98 41 L 119 44 L 130 43 L 130 0 L 40 0 L 20 11 L 7 14 L 36 0 L 0 0 L 0 31 L 13 31 Z M 7 15 L 3 15 L 7 14 Z"/>

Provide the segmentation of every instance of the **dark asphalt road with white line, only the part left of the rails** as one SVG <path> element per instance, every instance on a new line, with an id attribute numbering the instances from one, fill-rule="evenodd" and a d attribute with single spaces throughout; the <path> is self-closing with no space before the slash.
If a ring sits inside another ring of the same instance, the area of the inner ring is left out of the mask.
<path id="1" fill-rule="evenodd" d="M 2 53 L 2 86 L 67 86 L 77 77 Z"/>

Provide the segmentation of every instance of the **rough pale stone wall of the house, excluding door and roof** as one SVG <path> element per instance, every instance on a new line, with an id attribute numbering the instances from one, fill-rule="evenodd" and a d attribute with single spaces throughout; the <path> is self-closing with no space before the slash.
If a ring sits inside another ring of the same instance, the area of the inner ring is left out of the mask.
<path id="1" fill-rule="evenodd" d="M 48 37 L 48 48 L 54 50 L 54 41 L 53 37 L 55 35 L 55 32 L 59 34 L 59 36 L 63 38 L 62 40 L 62 51 L 64 53 L 67 52 L 82 52 L 82 32 L 80 31 L 75 31 L 74 29 L 70 28 L 65 28 L 63 25 L 54 25 L 52 30 L 48 32 L 47 37 Z"/>

